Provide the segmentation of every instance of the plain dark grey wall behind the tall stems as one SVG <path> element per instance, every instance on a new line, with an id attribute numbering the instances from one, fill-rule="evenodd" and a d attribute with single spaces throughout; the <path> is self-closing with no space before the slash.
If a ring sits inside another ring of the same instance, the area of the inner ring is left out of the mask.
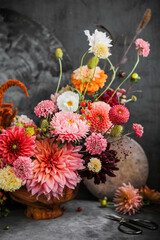
<path id="1" fill-rule="evenodd" d="M 61 41 L 70 55 L 73 68 L 79 67 L 81 56 L 88 48 L 83 30 L 93 31 L 96 28 L 95 24 L 102 24 L 112 32 L 115 47 L 110 59 L 116 64 L 126 48 L 124 43 L 129 44 L 144 11 L 146 8 L 151 8 L 151 21 L 140 35 L 151 44 L 151 52 L 148 58 L 141 57 L 137 68 L 141 80 L 135 89 L 141 89 L 143 92 L 137 93 L 138 102 L 130 105 L 129 124 L 131 126 L 132 122 L 138 122 L 144 126 L 144 137 L 137 141 L 142 145 L 149 159 L 148 185 L 158 189 L 160 183 L 160 1 L 0 0 L 0 7 L 15 10 L 46 26 Z M 136 53 L 132 47 L 128 62 L 121 69 L 129 72 L 135 60 Z M 118 83 L 117 79 L 115 85 L 117 86 Z M 127 87 L 128 84 L 125 86 Z M 87 196 L 83 187 L 81 189 L 81 196 Z"/>

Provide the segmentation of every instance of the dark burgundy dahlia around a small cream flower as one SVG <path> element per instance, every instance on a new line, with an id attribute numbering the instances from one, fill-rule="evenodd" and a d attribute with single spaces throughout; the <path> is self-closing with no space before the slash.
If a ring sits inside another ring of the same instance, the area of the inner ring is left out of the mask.
<path id="1" fill-rule="evenodd" d="M 101 153 L 100 155 L 84 156 L 84 160 L 86 162 L 85 163 L 86 170 L 80 172 L 81 177 L 87 177 L 88 179 L 94 178 L 95 184 L 100 184 L 101 182 L 105 183 L 106 175 L 110 177 L 116 177 L 113 171 L 119 170 L 116 163 L 120 161 L 116 157 L 116 155 L 117 155 L 117 152 L 114 150 L 110 150 L 110 143 L 108 143 L 105 152 Z M 87 165 L 92 157 L 98 158 L 101 161 L 102 167 L 99 172 L 93 172 L 87 168 Z"/>

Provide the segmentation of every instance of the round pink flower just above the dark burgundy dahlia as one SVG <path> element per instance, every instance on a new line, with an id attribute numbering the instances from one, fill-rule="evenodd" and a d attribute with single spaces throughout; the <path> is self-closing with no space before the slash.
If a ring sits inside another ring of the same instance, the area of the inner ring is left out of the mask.
<path id="1" fill-rule="evenodd" d="M 106 150 L 107 140 L 100 133 L 92 133 L 88 138 L 86 138 L 84 145 L 91 155 L 101 154 Z"/>

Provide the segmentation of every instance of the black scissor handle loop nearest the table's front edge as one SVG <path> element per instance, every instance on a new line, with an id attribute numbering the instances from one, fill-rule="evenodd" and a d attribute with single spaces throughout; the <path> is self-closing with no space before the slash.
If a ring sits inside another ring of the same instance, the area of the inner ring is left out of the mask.
<path id="1" fill-rule="evenodd" d="M 129 231 L 127 230 L 127 228 L 133 230 L 133 231 Z M 138 234 L 141 234 L 142 233 L 142 230 L 127 223 L 126 221 L 121 221 L 119 226 L 118 226 L 118 230 L 123 232 L 123 233 L 126 233 L 126 234 L 131 234 L 131 235 L 138 235 Z"/>

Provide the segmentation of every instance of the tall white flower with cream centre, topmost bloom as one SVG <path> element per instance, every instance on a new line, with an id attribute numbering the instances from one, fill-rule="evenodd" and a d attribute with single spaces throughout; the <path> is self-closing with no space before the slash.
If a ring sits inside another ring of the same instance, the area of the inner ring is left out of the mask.
<path id="1" fill-rule="evenodd" d="M 85 35 L 88 37 L 89 41 L 89 52 L 93 53 L 98 58 L 106 59 L 111 55 L 110 47 L 112 47 L 110 37 L 106 37 L 106 33 L 98 31 L 90 35 L 88 30 L 84 31 Z"/>

